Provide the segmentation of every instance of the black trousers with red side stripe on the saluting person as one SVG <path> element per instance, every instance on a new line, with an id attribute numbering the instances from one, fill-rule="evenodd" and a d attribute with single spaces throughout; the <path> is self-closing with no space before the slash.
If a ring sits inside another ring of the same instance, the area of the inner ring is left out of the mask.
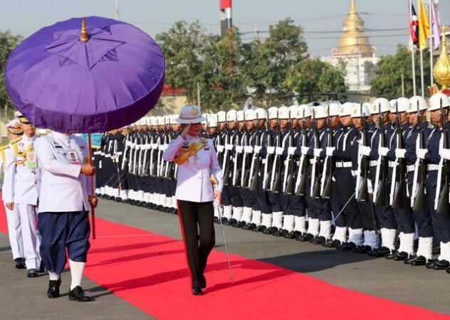
<path id="1" fill-rule="evenodd" d="M 204 270 L 216 241 L 212 201 L 199 203 L 179 200 L 178 213 L 192 287 L 206 287 Z"/>

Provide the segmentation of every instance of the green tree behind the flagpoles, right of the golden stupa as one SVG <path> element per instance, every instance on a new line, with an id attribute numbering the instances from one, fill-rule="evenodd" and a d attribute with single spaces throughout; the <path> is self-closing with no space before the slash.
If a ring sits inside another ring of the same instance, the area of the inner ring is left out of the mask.
<path id="1" fill-rule="evenodd" d="M 424 80 L 429 80 L 429 53 L 425 50 L 424 56 Z M 420 94 L 420 58 L 415 55 L 417 94 Z M 404 77 L 404 95 L 412 97 L 414 90 L 412 86 L 412 63 L 411 51 L 403 46 L 397 46 L 395 55 L 386 55 L 377 63 L 375 78 L 370 82 L 371 94 L 382 97 L 402 96 L 402 75 Z M 427 89 L 425 89 L 427 91 Z"/>

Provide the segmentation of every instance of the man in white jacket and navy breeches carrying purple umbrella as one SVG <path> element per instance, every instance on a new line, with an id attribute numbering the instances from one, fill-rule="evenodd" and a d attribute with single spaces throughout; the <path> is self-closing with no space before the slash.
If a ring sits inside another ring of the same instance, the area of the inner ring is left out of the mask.
<path id="1" fill-rule="evenodd" d="M 85 164 L 88 146 L 80 137 L 53 132 L 36 141 L 36 154 L 42 171 L 38 228 L 42 236 L 41 257 L 50 276 L 47 297 L 59 297 L 61 272 L 69 257 L 69 300 L 86 302 L 81 278 L 90 247 L 90 198 L 88 176 L 95 167 Z"/>

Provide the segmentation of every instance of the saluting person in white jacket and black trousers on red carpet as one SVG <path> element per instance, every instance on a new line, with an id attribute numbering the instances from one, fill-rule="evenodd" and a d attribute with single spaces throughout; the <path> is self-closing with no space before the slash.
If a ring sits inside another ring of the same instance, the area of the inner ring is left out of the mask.
<path id="1" fill-rule="evenodd" d="M 194 105 L 184 106 L 177 122 L 182 134 L 164 151 L 164 161 L 178 164 L 177 198 L 188 267 L 191 272 L 192 294 L 203 294 L 206 287 L 204 270 L 209 252 L 214 247 L 214 206 L 221 205 L 222 171 L 211 139 L 199 137 L 202 132 L 202 112 Z M 216 190 L 211 183 L 216 179 Z M 198 227 L 197 227 L 198 226 Z"/>

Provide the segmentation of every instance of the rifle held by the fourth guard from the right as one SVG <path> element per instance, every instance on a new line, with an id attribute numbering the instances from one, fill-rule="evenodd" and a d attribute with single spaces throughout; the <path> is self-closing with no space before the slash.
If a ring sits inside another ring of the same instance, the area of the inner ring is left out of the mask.
<path id="1" fill-rule="evenodd" d="M 386 135 L 383 129 L 383 119 L 381 113 L 381 102 L 378 104 L 378 112 L 380 117 L 378 119 L 378 126 L 380 127 L 380 147 L 386 146 Z M 373 191 L 375 205 L 386 206 L 386 181 L 388 174 L 388 166 L 385 156 L 378 156 L 377 171 L 375 173 L 375 187 Z"/>

